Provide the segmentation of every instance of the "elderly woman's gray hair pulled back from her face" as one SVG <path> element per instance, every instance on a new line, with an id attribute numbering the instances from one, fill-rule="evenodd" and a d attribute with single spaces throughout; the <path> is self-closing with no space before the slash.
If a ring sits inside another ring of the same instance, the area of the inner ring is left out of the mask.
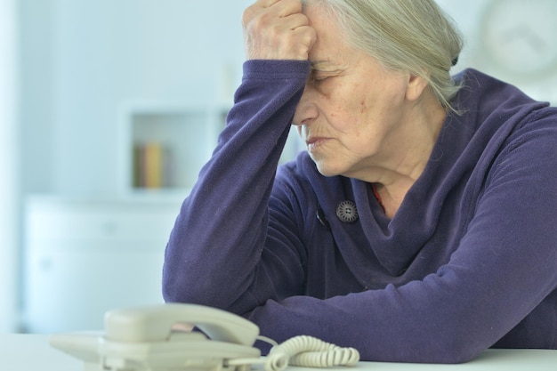
<path id="1" fill-rule="evenodd" d="M 303 0 L 339 26 L 346 43 L 385 69 L 422 77 L 446 109 L 460 85 L 450 76 L 463 47 L 453 20 L 434 0 Z"/>

